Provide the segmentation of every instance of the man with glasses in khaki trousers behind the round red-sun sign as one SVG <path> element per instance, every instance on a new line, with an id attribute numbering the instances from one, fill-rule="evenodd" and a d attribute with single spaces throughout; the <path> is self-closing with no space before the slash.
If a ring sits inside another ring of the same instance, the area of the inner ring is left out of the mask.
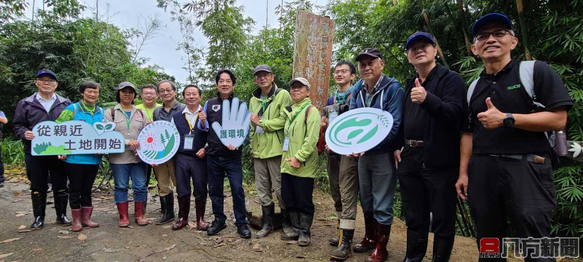
<path id="1" fill-rule="evenodd" d="M 176 112 L 182 112 L 186 105 L 176 101 L 176 84 L 170 80 L 158 82 L 158 94 L 162 98 L 164 105 L 154 109 L 154 121 L 172 121 Z M 150 91 L 147 91 L 150 92 Z M 155 100 L 154 100 L 155 101 Z M 166 224 L 174 219 L 174 194 L 170 183 L 176 186 L 174 174 L 174 158 L 154 167 L 154 176 L 158 182 L 158 194 L 160 196 L 160 206 L 162 217 L 156 220 L 156 225 Z"/>

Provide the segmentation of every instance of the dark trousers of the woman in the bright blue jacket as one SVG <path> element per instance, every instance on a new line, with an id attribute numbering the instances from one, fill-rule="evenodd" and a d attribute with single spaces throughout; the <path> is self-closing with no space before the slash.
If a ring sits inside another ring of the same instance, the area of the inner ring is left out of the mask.
<path id="1" fill-rule="evenodd" d="M 91 207 L 91 188 L 97 176 L 99 165 L 65 163 L 69 178 L 69 206 L 71 209 Z"/>

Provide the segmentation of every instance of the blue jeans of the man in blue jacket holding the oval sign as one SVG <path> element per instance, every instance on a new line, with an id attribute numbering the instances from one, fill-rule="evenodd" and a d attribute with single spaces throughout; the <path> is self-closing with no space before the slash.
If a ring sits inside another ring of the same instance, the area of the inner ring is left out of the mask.
<path id="1" fill-rule="evenodd" d="M 397 185 L 392 153 L 364 154 L 359 158 L 360 204 L 373 212 L 379 224 L 392 225 Z"/>

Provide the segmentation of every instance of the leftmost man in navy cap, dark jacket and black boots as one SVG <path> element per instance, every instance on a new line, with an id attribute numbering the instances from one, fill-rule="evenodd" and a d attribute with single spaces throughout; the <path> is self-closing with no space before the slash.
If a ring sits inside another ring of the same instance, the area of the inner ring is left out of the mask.
<path id="1" fill-rule="evenodd" d="M 55 121 L 61 111 L 71 101 L 55 94 L 57 89 L 57 75 L 51 70 L 38 71 L 34 84 L 38 92 L 30 97 L 18 101 L 14 114 L 14 133 L 24 142 L 26 162 L 26 176 L 30 180 L 30 196 L 33 202 L 34 222 L 30 229 L 41 229 L 44 225 L 45 207 L 47 206 L 47 180 L 51 176 L 57 224 L 71 225 L 66 217 L 69 190 L 64 174 L 65 162 L 58 160 L 57 155 L 32 156 L 30 154 L 30 140 L 34 138 L 34 125 L 43 121 Z"/>

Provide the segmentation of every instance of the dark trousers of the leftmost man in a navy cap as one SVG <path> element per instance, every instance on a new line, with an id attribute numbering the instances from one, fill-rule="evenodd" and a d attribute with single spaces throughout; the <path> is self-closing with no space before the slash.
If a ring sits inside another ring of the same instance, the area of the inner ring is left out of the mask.
<path id="1" fill-rule="evenodd" d="M 24 162 L 26 162 L 26 177 L 30 180 L 31 193 L 46 194 L 48 182 L 52 184 L 52 191 L 55 194 L 68 193 L 65 162 L 59 160 L 56 155 L 33 156 L 26 154 Z"/>

